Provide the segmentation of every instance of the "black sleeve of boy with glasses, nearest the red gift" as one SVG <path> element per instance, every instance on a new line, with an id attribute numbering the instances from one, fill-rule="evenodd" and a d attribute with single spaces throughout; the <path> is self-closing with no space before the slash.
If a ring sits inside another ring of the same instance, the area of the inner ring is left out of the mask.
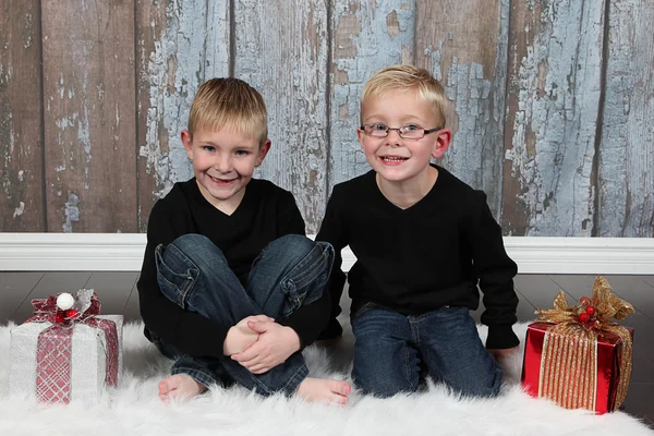
<path id="1" fill-rule="evenodd" d="M 477 206 L 473 211 L 468 242 L 472 247 L 473 267 L 480 280 L 480 289 L 484 294 L 486 310 L 482 313 L 481 320 L 488 326 L 486 348 L 512 348 L 520 343 L 511 327 L 518 320 L 518 295 L 513 289 L 518 266 L 505 250 L 501 228 L 488 208 L 486 194 L 475 191 L 475 196 Z"/>

